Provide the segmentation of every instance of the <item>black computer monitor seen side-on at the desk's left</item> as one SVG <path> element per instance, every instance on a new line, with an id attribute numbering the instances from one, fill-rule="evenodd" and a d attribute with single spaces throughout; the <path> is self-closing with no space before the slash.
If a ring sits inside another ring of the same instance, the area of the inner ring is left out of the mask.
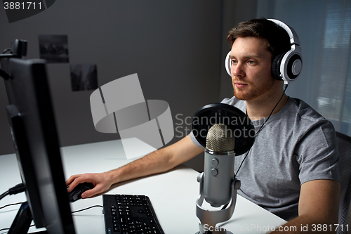
<path id="1" fill-rule="evenodd" d="M 45 227 L 44 233 L 75 233 L 62 169 L 46 61 L 0 59 L 1 69 L 10 77 L 5 79 L 9 103 L 6 110 L 30 209 L 29 215 L 16 216 L 11 226 L 15 229 L 13 233 L 20 233 L 21 228 L 29 228 L 30 222 L 25 224 L 27 221 L 22 220 L 27 219 L 24 216 L 32 216 L 37 228 Z"/>

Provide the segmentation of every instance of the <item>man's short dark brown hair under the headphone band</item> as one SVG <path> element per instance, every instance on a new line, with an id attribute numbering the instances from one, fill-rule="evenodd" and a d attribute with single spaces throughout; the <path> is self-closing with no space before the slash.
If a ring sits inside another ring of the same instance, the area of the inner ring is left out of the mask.
<path id="1" fill-rule="evenodd" d="M 267 50 L 272 53 L 272 59 L 291 49 L 288 32 L 271 20 L 265 18 L 240 22 L 229 31 L 227 41 L 230 48 L 238 37 L 259 37 L 266 39 Z"/>

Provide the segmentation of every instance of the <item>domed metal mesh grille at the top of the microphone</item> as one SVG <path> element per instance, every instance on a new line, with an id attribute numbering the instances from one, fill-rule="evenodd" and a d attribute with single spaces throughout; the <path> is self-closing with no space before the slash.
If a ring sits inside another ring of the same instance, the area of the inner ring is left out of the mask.
<path id="1" fill-rule="evenodd" d="M 234 150 L 235 138 L 230 128 L 225 124 L 215 124 L 208 130 L 206 148 L 216 152 Z"/>

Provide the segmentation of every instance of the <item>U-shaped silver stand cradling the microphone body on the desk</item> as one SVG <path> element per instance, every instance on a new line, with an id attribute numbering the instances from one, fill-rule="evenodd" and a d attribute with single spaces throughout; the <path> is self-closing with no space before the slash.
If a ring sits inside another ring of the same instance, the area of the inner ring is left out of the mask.
<path id="1" fill-rule="evenodd" d="M 220 210 L 208 210 L 204 209 L 202 204 L 204 203 L 204 172 L 197 176 L 197 181 L 200 183 L 200 195 L 197 199 L 197 217 L 200 220 L 199 232 L 197 234 L 204 234 L 207 231 L 213 234 L 229 234 L 232 233 L 222 227 L 216 227 L 217 223 L 222 223 L 229 220 L 234 213 L 235 204 L 237 202 L 237 190 L 240 188 L 241 183 L 237 178 L 232 180 L 232 200 L 230 206 Z M 207 229 L 207 231 L 206 231 Z"/>

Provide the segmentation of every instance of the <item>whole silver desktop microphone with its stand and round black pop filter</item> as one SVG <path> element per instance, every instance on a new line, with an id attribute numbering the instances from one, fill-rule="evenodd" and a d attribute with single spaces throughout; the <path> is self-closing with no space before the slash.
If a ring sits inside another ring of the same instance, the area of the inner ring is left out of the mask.
<path id="1" fill-rule="evenodd" d="M 231 233 L 220 223 L 232 217 L 237 190 L 241 186 L 234 176 L 234 157 L 251 148 L 255 138 L 245 133 L 255 132 L 255 128 L 249 117 L 238 108 L 224 103 L 212 103 L 195 112 L 192 131 L 197 142 L 205 148 L 204 172 L 197 177 L 200 183 L 200 194 L 196 202 L 199 218 L 197 234 Z M 241 132 L 238 137 L 234 134 L 237 131 Z M 235 144 L 237 140 L 239 144 Z M 206 209 L 207 204 L 221 209 Z"/>

